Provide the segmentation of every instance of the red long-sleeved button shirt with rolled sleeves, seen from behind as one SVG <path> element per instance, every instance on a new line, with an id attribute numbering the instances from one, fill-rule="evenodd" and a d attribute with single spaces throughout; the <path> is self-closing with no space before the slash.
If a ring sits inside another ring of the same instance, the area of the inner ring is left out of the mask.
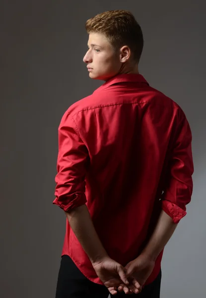
<path id="1" fill-rule="evenodd" d="M 191 130 L 182 109 L 140 74 L 119 74 L 69 107 L 59 126 L 54 204 L 86 203 L 108 255 L 125 266 L 161 209 L 178 223 L 192 195 Z M 159 273 L 162 253 L 146 284 Z M 62 255 L 102 284 L 67 220 Z"/>

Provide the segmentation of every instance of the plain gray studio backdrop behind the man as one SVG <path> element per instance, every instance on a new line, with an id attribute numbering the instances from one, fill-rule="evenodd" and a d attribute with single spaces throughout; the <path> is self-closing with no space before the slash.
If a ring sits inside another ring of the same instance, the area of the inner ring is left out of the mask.
<path id="1" fill-rule="evenodd" d="M 65 214 L 52 205 L 58 126 L 70 104 L 103 83 L 82 62 L 84 23 L 110 9 L 134 13 L 145 40 L 140 73 L 181 105 L 193 132 L 193 200 L 165 249 L 161 298 L 205 297 L 204 2 L 1 2 L 0 297 L 55 297 L 65 234 Z"/>

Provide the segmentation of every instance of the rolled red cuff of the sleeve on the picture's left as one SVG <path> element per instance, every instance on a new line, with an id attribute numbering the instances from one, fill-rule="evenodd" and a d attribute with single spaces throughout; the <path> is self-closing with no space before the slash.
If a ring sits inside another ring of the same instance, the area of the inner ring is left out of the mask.
<path id="1" fill-rule="evenodd" d="M 75 198 L 72 201 L 70 198 L 64 198 L 64 201 L 60 201 L 60 199 L 56 198 L 53 201 L 53 204 L 59 206 L 65 212 L 68 212 L 73 208 L 84 205 L 86 202 L 87 200 L 85 194 L 75 194 Z"/>

